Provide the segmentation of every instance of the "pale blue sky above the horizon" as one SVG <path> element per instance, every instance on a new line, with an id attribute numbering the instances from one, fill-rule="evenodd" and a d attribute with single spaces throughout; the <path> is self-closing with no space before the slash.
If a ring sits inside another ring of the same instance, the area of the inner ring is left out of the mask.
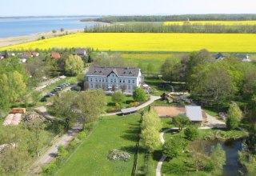
<path id="1" fill-rule="evenodd" d="M 255 0 L 1 0 L 0 16 L 254 14 Z"/>

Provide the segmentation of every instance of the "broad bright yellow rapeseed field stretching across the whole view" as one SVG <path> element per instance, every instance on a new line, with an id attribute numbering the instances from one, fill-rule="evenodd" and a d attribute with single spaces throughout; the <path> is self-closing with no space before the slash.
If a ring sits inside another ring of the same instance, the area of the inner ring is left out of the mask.
<path id="1" fill-rule="evenodd" d="M 256 34 L 77 33 L 8 46 L 0 50 L 92 47 L 114 51 L 256 52 Z"/>

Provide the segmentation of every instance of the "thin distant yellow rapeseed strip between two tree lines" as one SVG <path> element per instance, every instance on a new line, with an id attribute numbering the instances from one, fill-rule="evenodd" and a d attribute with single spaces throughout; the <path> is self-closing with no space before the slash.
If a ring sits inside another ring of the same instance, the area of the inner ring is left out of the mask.
<path id="1" fill-rule="evenodd" d="M 240 25 L 248 25 L 253 26 L 256 25 L 256 21 L 190 21 L 190 22 L 164 22 L 165 26 L 170 25 L 225 25 L 225 26 L 240 26 Z"/>

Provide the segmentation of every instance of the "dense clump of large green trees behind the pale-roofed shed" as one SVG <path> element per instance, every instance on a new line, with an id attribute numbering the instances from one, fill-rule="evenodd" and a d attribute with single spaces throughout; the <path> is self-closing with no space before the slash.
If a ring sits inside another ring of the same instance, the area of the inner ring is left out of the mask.
<path id="1" fill-rule="evenodd" d="M 168 82 L 185 82 L 194 100 L 202 105 L 225 106 L 231 100 L 241 102 L 246 113 L 254 110 L 256 67 L 239 58 L 216 60 L 209 51 L 192 52 L 181 60 L 166 59 L 161 67 L 162 78 Z"/>

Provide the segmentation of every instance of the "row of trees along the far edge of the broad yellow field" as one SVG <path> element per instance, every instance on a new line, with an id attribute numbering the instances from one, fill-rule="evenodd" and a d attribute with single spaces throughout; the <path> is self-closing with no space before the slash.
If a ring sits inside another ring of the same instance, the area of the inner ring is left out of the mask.
<path id="1" fill-rule="evenodd" d="M 238 34 L 254 34 L 256 33 L 256 25 L 239 25 L 239 26 L 225 26 L 225 25 L 198 25 L 173 24 L 164 26 L 162 23 L 135 23 L 135 24 L 114 24 L 110 26 L 94 25 L 93 27 L 86 27 L 86 33 L 238 33 Z"/>

